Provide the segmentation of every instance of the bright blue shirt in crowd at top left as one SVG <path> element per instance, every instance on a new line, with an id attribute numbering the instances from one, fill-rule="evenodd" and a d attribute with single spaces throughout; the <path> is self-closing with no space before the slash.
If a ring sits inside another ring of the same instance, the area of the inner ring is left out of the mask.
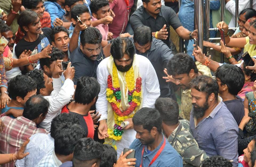
<path id="1" fill-rule="evenodd" d="M 53 22 L 56 18 L 63 19 L 63 15 L 65 15 L 65 10 L 61 8 L 61 6 L 57 2 L 46 1 L 43 3 L 45 6 L 45 11 L 48 12 L 51 16 L 51 28 L 54 27 Z"/>

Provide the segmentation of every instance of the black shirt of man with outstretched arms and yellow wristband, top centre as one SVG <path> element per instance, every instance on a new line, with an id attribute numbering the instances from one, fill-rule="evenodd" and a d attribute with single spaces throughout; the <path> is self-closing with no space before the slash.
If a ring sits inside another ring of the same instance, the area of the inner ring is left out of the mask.
<path id="1" fill-rule="evenodd" d="M 182 26 L 176 12 L 167 6 L 161 6 L 160 13 L 157 18 L 153 18 L 149 13 L 145 10 L 143 6 L 140 6 L 130 18 L 131 27 L 133 31 L 136 30 L 137 27 L 145 25 L 152 29 L 153 32 L 161 30 L 163 26 L 166 24 L 166 28 L 169 30 L 168 38 L 163 40 L 164 43 L 170 47 L 170 26 L 176 30 L 178 27 Z"/>

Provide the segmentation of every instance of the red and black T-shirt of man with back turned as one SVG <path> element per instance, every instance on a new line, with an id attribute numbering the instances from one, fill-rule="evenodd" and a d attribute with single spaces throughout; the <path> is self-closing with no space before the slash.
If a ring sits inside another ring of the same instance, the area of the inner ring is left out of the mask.
<path id="1" fill-rule="evenodd" d="M 94 126 L 93 126 L 93 119 L 91 118 L 91 115 L 90 114 L 82 115 L 82 114 L 78 114 L 76 112 L 71 112 L 71 111 L 69 111 L 69 108 L 67 108 L 67 105 L 62 108 L 61 113 L 65 112 L 65 113 L 70 113 L 70 114 L 77 115 L 78 118 L 80 119 L 80 125 L 87 132 L 87 137 L 90 137 L 90 138 L 93 139 L 93 136 L 94 136 Z"/>

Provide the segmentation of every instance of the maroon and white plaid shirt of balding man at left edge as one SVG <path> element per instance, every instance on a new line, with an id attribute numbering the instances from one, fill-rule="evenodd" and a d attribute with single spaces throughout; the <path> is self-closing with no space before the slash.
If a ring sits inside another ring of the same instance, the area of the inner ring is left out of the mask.
<path id="1" fill-rule="evenodd" d="M 5 125 L 4 131 L 0 133 L 1 154 L 17 152 L 23 142 L 35 133 L 48 133 L 44 129 L 37 128 L 37 125 L 33 121 L 23 116 L 12 119 L 11 117 L 4 115 L 5 113 L 0 115 L 0 119 Z M 2 166 L 14 166 L 14 162 Z"/>

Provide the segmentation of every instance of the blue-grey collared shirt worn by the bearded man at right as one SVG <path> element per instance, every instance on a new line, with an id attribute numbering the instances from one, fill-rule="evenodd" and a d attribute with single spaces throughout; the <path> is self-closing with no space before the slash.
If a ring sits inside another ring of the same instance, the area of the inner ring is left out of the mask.
<path id="1" fill-rule="evenodd" d="M 234 160 L 233 166 L 238 165 L 238 126 L 233 115 L 227 109 L 222 98 L 211 114 L 201 120 L 197 126 L 197 119 L 190 114 L 190 129 L 200 149 L 208 156 L 220 155 L 228 160 Z"/>

